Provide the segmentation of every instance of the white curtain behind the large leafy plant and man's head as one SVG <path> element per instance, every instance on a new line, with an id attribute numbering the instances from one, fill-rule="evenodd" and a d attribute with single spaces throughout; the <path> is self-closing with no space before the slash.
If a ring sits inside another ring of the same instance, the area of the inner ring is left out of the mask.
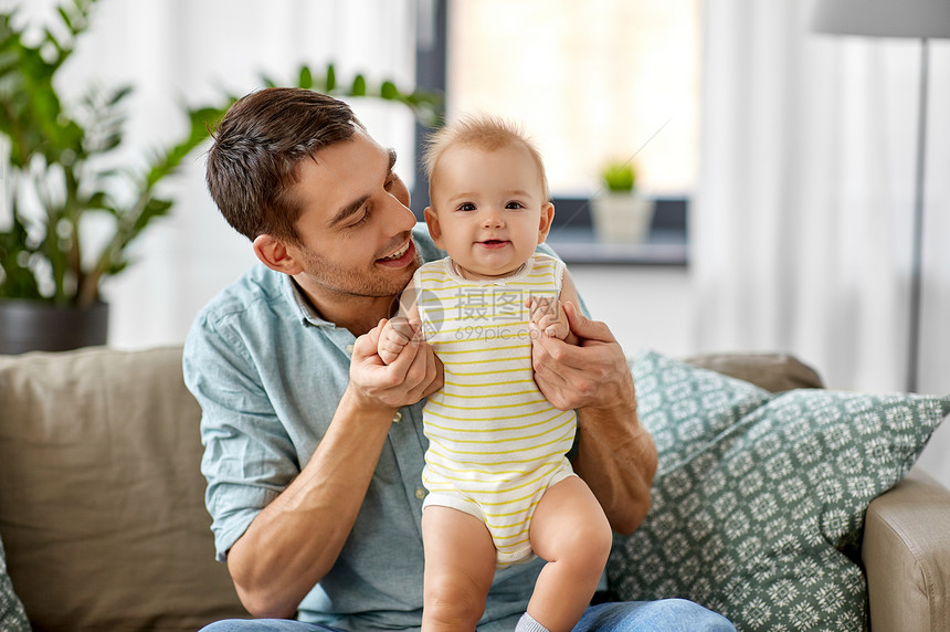
<path id="1" fill-rule="evenodd" d="M 0 0 L 31 23 L 55 22 L 70 0 Z M 225 94 L 263 87 L 261 75 L 296 85 L 304 63 L 335 63 L 337 77 L 414 82 L 419 0 L 102 0 L 92 28 L 62 69 L 59 89 L 80 95 L 91 83 L 131 84 L 124 147 L 129 161 L 187 130 L 182 104 L 221 104 Z M 412 185 L 413 117 L 394 104 L 353 99 L 373 136 L 399 152 Z M 198 310 L 253 263 L 247 240 L 221 218 L 204 186 L 207 148 L 166 182 L 176 200 L 133 244 L 135 263 L 104 283 L 110 305 L 109 345 L 180 344 Z M 102 227 L 89 227 L 92 239 Z"/>

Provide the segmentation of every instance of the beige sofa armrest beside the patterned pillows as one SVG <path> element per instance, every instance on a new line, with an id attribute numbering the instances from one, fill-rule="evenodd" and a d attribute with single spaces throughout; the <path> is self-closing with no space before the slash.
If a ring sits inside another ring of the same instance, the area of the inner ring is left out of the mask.
<path id="1" fill-rule="evenodd" d="M 867 508 L 874 632 L 950 630 L 950 491 L 919 467 Z"/>

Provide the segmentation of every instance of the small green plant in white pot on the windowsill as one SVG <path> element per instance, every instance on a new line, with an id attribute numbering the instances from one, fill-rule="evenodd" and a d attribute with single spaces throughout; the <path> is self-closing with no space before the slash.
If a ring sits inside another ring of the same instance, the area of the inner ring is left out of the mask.
<path id="1" fill-rule="evenodd" d="M 610 160 L 601 170 L 603 189 L 591 199 L 594 232 L 603 242 L 640 243 L 650 234 L 653 200 L 636 190 L 631 160 Z"/>

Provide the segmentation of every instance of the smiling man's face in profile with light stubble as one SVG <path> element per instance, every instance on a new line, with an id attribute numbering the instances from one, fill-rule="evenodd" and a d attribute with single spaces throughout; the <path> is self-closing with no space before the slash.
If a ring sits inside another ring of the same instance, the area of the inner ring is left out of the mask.
<path id="1" fill-rule="evenodd" d="M 395 154 L 358 130 L 304 160 L 292 194 L 300 204 L 302 284 L 319 303 L 394 296 L 419 267 L 409 190 L 392 171 Z"/>

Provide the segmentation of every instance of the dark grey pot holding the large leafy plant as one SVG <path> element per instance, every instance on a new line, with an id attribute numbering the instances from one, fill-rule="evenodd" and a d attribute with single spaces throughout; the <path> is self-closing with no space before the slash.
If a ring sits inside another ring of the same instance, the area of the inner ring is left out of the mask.
<path id="1" fill-rule="evenodd" d="M 0 298 L 0 354 L 105 345 L 108 317 L 105 303 L 81 309 L 57 307 L 45 301 Z"/>

